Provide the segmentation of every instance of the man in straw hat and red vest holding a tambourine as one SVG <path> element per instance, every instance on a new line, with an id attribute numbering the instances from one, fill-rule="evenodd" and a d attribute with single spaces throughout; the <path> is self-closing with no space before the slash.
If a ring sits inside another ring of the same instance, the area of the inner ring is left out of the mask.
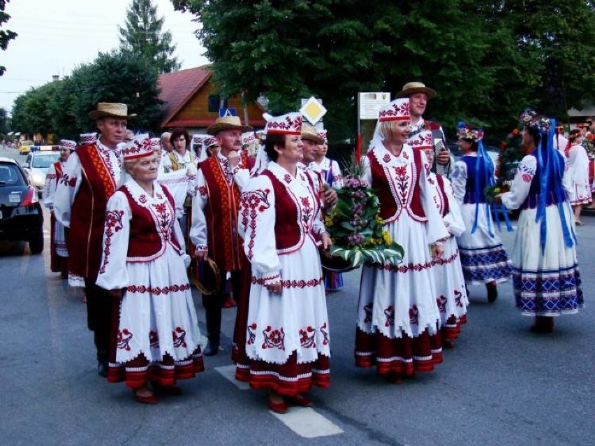
<path id="1" fill-rule="evenodd" d="M 236 296 L 240 291 L 240 270 L 244 266 L 237 212 L 240 193 L 249 180 L 249 166 L 240 162 L 240 152 L 242 132 L 251 129 L 242 125 L 240 117 L 233 116 L 229 110 L 207 128 L 207 134 L 215 137 L 221 151 L 200 163 L 192 203 L 190 238 L 196 245 L 195 257 L 198 261 L 207 257 L 214 260 L 223 280 L 230 277 Z M 206 356 L 219 352 L 221 308 L 225 298 L 221 289 L 210 296 L 203 294 L 209 339 L 203 352 Z"/>

